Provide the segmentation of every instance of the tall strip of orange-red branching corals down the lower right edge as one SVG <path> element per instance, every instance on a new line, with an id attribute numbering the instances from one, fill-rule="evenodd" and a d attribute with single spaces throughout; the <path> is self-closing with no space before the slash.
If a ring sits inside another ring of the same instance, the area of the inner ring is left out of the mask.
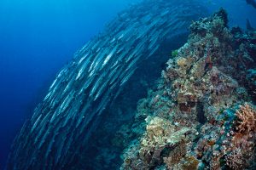
<path id="1" fill-rule="evenodd" d="M 230 154 L 226 156 L 226 163 L 232 169 L 247 167 L 253 160 L 256 132 L 256 111 L 248 104 L 241 105 L 236 111 L 236 130 L 233 134 Z"/>

